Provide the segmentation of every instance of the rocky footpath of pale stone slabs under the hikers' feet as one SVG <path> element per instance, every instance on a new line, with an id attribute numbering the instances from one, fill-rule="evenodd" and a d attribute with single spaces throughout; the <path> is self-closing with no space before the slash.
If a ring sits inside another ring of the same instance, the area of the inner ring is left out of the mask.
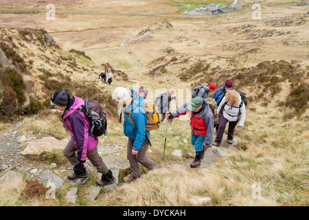
<path id="1" fill-rule="evenodd" d="M 62 151 L 69 141 L 69 137 L 62 140 L 57 140 L 54 137 L 38 138 L 40 134 L 32 132 L 21 134 L 18 130 L 17 123 L 12 126 L 12 129 L 0 131 L 0 184 L 21 184 L 24 174 L 28 173 L 28 177 L 38 179 L 46 188 L 49 188 L 46 192 L 47 199 L 55 199 L 56 189 L 61 188 L 67 182 L 73 186 L 65 197 L 67 203 L 76 203 L 78 185 L 85 184 L 89 177 L 70 181 L 67 179 L 67 174 L 72 172 L 73 166 L 69 162 L 65 165 L 58 165 L 54 162 L 42 162 L 41 159 L 34 159 L 38 157 L 28 157 L 30 155 L 41 155 L 43 152 L 53 152 L 55 149 Z M 233 144 L 227 144 L 226 137 L 227 135 L 223 136 L 222 147 L 212 146 L 206 151 L 200 168 L 216 164 L 218 162 L 217 158 L 227 156 L 230 151 L 237 151 L 233 146 L 237 144 L 236 138 L 234 138 Z M 183 140 L 183 142 L 184 144 L 190 144 L 187 140 Z M 113 171 L 116 181 L 104 187 L 89 186 L 87 192 L 85 192 L 87 199 L 95 200 L 102 189 L 113 190 L 122 177 L 130 172 L 128 160 L 115 156 L 121 155 L 119 151 L 122 150 L 124 150 L 124 147 L 119 145 L 98 145 L 98 152 L 100 155 L 106 155 L 102 159 L 106 166 Z M 182 154 L 180 149 L 173 151 L 172 154 L 176 157 L 187 157 Z M 190 163 L 193 160 L 190 157 L 195 157 L 194 151 L 189 154 L 189 159 L 185 159 L 185 162 L 181 159 L 181 164 L 172 162 L 167 167 L 176 166 L 177 168 L 190 169 Z M 102 173 L 97 173 L 90 162 L 85 162 L 85 166 L 87 172 L 93 172 L 96 174 L 95 178 L 101 178 Z M 202 201 L 204 200 L 202 199 Z"/>

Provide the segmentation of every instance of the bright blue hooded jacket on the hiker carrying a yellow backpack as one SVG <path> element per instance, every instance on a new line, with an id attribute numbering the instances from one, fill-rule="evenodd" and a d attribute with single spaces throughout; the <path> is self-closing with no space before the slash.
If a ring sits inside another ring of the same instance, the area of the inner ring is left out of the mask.
<path id="1" fill-rule="evenodd" d="M 133 95 L 133 102 L 124 109 L 124 135 L 134 140 L 133 149 L 139 151 L 141 144 L 146 140 L 146 132 L 149 137 L 150 132 L 146 131 L 147 116 L 144 110 L 145 101 L 140 95 Z M 134 124 L 130 121 L 128 113 Z"/>

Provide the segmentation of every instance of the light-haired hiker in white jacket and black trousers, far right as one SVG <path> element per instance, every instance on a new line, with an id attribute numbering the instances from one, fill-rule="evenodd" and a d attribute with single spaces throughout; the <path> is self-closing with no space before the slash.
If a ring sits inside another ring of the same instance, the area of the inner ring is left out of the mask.
<path id="1" fill-rule="evenodd" d="M 218 111 L 218 116 L 220 116 L 219 128 L 216 140 L 212 145 L 218 146 L 222 142 L 222 136 L 225 132 L 225 125 L 227 122 L 229 122 L 227 142 L 232 144 L 236 125 L 239 122 L 237 130 L 240 131 L 244 125 L 244 118 L 246 117 L 245 104 L 243 103 L 238 91 L 228 91 L 227 95 L 220 102 Z"/>

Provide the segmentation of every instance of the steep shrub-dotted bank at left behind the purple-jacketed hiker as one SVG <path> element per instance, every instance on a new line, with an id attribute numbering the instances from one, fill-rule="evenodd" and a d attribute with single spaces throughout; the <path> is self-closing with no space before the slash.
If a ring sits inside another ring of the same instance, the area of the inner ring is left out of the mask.
<path id="1" fill-rule="evenodd" d="M 117 80 L 128 80 L 108 63 L 96 65 L 77 50 L 63 51 L 44 30 L 0 29 L 0 48 L 10 67 L 0 67 L 0 119 L 33 115 L 50 109 L 49 99 L 65 88 L 71 96 L 93 98 L 104 105 L 109 118 L 115 117 L 111 94 L 98 76 L 105 67 Z"/>

